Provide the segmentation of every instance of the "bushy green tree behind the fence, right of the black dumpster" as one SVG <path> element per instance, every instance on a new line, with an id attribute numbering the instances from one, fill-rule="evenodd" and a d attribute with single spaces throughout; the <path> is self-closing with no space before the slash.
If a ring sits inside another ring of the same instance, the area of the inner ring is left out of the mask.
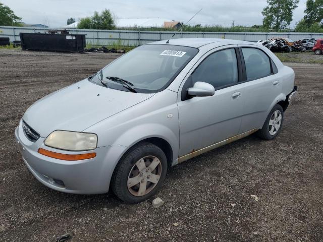
<path id="1" fill-rule="evenodd" d="M 115 29 L 115 21 L 110 10 L 103 10 L 100 14 L 94 12 L 92 17 L 80 19 L 79 29 Z"/>

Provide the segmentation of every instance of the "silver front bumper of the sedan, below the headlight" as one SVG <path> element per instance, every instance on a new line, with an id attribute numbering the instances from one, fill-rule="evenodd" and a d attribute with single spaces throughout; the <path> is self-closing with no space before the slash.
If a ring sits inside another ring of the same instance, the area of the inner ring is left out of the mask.
<path id="1" fill-rule="evenodd" d="M 22 159 L 31 173 L 43 185 L 60 192 L 74 194 L 100 194 L 109 191 L 114 168 L 126 147 L 119 145 L 99 147 L 96 157 L 79 161 L 65 161 L 39 154 L 39 148 L 53 152 L 73 154 L 44 145 L 44 138 L 29 141 L 22 130 L 22 122 L 15 130 L 16 142 Z M 87 152 L 78 152 L 87 153 Z"/>

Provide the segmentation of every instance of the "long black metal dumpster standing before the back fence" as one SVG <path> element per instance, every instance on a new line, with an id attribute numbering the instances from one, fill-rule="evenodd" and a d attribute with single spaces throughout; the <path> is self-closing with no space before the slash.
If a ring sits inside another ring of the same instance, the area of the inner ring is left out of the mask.
<path id="1" fill-rule="evenodd" d="M 21 48 L 62 52 L 83 52 L 85 34 L 20 33 Z"/>

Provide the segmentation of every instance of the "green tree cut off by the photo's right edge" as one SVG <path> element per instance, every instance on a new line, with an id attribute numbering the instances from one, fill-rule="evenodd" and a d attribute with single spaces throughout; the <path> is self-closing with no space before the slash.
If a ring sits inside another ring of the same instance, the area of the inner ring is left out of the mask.
<path id="1" fill-rule="evenodd" d="M 307 26 L 320 23 L 323 26 L 323 0 L 307 0 L 304 20 Z"/>

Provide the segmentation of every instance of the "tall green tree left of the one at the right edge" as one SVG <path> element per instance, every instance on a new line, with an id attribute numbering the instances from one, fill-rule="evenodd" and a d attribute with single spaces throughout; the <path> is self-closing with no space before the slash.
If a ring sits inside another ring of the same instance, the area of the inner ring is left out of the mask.
<path id="1" fill-rule="evenodd" d="M 293 10 L 299 0 L 267 0 L 268 6 L 263 9 L 263 26 L 268 29 L 284 29 L 293 20 Z"/>

